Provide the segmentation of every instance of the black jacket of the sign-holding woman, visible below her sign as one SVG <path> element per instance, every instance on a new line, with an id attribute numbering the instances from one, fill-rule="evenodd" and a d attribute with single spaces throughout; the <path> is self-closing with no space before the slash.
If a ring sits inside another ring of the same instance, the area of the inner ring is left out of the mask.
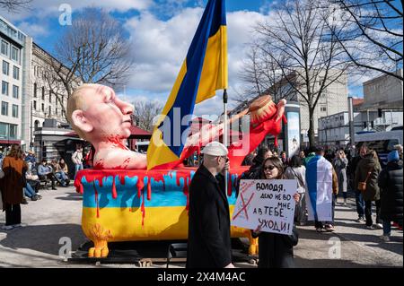
<path id="1" fill-rule="evenodd" d="M 294 247 L 299 235 L 261 232 L 259 234 L 259 268 L 294 268 Z"/>

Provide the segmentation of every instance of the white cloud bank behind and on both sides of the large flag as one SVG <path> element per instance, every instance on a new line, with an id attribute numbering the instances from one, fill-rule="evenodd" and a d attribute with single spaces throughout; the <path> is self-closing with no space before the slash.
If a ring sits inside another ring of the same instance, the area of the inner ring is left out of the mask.
<path id="1" fill-rule="evenodd" d="M 130 88 L 160 92 L 166 94 L 165 100 L 168 98 L 202 13 L 200 7 L 186 8 L 171 19 L 162 21 L 151 13 L 143 12 L 127 21 L 125 26 L 131 35 L 136 61 Z M 256 12 L 227 13 L 230 100 L 233 89 L 240 82 L 242 59 L 248 48 L 246 44 L 252 40 L 252 27 L 266 19 L 268 16 Z M 195 112 L 221 112 L 222 92 L 218 94 L 216 98 L 220 100 L 207 100 L 199 104 Z"/>

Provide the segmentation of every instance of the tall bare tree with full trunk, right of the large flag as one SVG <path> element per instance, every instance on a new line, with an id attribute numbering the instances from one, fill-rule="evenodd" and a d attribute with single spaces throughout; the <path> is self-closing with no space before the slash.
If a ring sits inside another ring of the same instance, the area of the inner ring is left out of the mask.
<path id="1" fill-rule="evenodd" d="M 273 22 L 260 22 L 256 28 L 261 36 L 259 48 L 281 71 L 278 89 L 292 88 L 303 108 L 308 108 L 313 146 L 317 103 L 330 84 L 344 79 L 349 66 L 335 39 L 341 27 L 323 21 L 332 18 L 331 12 L 319 9 L 315 0 L 287 1 L 275 9 Z"/>

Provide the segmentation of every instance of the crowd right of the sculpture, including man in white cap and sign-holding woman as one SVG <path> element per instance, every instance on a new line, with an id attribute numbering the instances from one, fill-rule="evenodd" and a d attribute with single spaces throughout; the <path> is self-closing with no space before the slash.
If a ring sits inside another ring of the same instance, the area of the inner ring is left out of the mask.
<path id="1" fill-rule="evenodd" d="M 391 223 L 402 230 L 403 217 L 403 169 L 402 146 L 395 146 L 388 155 L 386 168 L 382 169 L 377 153 L 362 145 L 357 154 L 346 150 L 326 152 L 321 146 L 301 151 L 286 157 L 277 155 L 266 146 L 251 152 L 243 161 L 250 169 L 240 179 L 296 179 L 296 203 L 294 224 L 304 225 L 308 220 L 305 196 L 312 188 L 321 186 L 312 176 L 329 174 L 332 194 L 330 221 L 314 219 L 317 232 L 335 231 L 334 209 L 338 195 L 340 204 L 347 205 L 348 192 L 355 194 L 358 219 L 365 221 L 364 228 L 382 229 L 382 241 L 391 237 Z M 189 187 L 189 249 L 187 267 L 233 267 L 230 242 L 228 204 L 225 200 L 224 170 L 228 168 L 228 151 L 221 143 L 209 143 L 202 151 L 204 159 Z M 321 162 L 321 163 L 319 163 Z M 238 186 L 237 186 L 238 188 Z M 238 195 L 238 193 L 237 193 Z M 376 221 L 373 223 L 372 207 L 376 206 Z M 354 220 L 355 218 L 353 218 Z M 259 238 L 259 267 L 294 267 L 293 248 L 298 243 L 298 232 L 294 227 L 291 235 L 261 232 L 258 226 L 251 230 Z"/>

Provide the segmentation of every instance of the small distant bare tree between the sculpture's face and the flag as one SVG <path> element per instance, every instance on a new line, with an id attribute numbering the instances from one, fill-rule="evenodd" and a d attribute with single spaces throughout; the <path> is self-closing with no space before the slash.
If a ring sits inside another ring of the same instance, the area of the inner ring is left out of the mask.
<path id="1" fill-rule="evenodd" d="M 153 100 L 137 100 L 135 102 L 134 115 L 138 120 L 138 126 L 146 131 L 152 132 L 154 128 L 154 117 L 157 117 L 162 112 L 162 103 Z"/>

